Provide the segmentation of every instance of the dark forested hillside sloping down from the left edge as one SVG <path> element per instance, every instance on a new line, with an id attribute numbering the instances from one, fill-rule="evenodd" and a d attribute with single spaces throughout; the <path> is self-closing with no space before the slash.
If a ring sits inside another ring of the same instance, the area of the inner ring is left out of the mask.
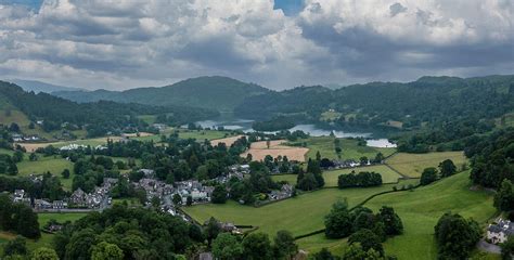
<path id="1" fill-rule="evenodd" d="M 0 81 L 0 101 L 5 107 L 4 114 L 21 112 L 33 126 L 42 121 L 40 125 L 44 131 L 86 129 L 90 136 L 128 128 L 147 130 L 147 123 L 140 120 L 138 115 L 159 115 L 162 122 L 175 125 L 216 116 L 216 113 L 206 109 L 181 106 L 120 104 L 112 101 L 77 104 L 47 93 L 25 92 L 16 84 L 3 81 Z"/>

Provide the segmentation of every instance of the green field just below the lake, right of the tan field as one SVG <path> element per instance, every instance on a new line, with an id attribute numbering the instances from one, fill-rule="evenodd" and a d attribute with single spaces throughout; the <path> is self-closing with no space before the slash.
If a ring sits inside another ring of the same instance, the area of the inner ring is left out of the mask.
<path id="1" fill-rule="evenodd" d="M 318 151 L 321 154 L 322 158 L 329 159 L 339 159 L 335 153 L 335 138 L 331 136 L 320 136 L 320 138 L 309 138 L 306 140 L 299 140 L 296 143 L 307 143 L 307 153 L 308 158 L 316 158 Z M 355 159 L 359 160 L 362 156 L 368 158 L 374 158 L 375 155 L 381 152 L 384 156 L 389 156 L 395 153 L 396 148 L 376 148 L 370 146 L 359 146 L 357 145 L 358 141 L 355 139 L 339 139 L 340 147 L 343 150 L 340 154 L 340 159 Z"/>

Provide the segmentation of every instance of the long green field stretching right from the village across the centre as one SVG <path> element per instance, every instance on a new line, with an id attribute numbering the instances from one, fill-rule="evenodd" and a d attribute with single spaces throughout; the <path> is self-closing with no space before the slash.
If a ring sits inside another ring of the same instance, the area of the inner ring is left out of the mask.
<path id="1" fill-rule="evenodd" d="M 414 181 L 401 183 L 409 184 Z M 390 191 L 393 186 L 386 184 L 369 188 L 323 188 L 260 208 L 243 206 L 230 200 L 221 205 L 205 204 L 184 207 L 183 210 L 201 223 L 215 217 L 234 224 L 259 226 L 259 231 L 270 235 L 274 235 L 279 230 L 288 230 L 294 235 L 301 235 L 323 229 L 324 216 L 330 211 L 332 204 L 338 199 L 347 198 L 348 204 L 355 206 L 373 194 Z"/>

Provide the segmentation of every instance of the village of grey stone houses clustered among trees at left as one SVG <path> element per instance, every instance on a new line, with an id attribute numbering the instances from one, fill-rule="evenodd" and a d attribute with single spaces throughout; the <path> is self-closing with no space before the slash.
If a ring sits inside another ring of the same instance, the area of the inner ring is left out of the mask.
<path id="1" fill-rule="evenodd" d="M 75 147 L 75 146 L 74 146 Z M 70 148 L 70 147 L 66 147 Z M 195 204 L 208 204 L 211 202 L 214 186 L 204 185 L 196 180 L 179 181 L 174 184 L 167 184 L 157 180 L 152 169 L 139 169 L 143 178 L 137 182 L 131 182 L 134 188 L 145 192 L 145 207 L 151 207 L 152 202 L 159 202 L 163 211 L 174 216 L 179 214 L 187 219 L 181 211 L 177 210 L 180 206 L 191 206 Z M 209 180 L 208 183 L 218 183 L 224 185 L 231 178 L 242 180 L 245 174 L 249 174 L 248 165 L 234 165 L 229 167 L 224 176 Z M 127 174 L 121 174 L 126 178 Z M 41 177 L 33 176 L 33 182 L 42 181 Z M 93 192 L 86 193 L 80 187 L 75 190 L 68 197 L 61 200 L 49 202 L 46 199 L 30 198 L 29 194 L 24 190 L 15 190 L 12 199 L 15 203 L 29 205 L 37 212 L 88 212 L 102 211 L 113 205 L 111 192 L 118 183 L 116 178 L 104 178 L 101 186 L 95 186 Z M 230 191 L 229 191 L 230 192 Z M 293 195 L 293 186 L 283 184 L 280 190 L 271 191 L 267 194 L 268 200 L 280 200 L 288 198 Z M 229 194 L 228 194 L 229 196 Z M 176 198 L 180 199 L 177 200 Z M 191 200 L 191 202 L 189 202 Z"/>

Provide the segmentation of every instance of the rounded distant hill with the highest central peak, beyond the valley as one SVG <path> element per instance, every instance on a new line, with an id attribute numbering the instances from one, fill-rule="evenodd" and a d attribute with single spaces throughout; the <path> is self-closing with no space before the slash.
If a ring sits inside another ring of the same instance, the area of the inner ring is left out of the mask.
<path id="1" fill-rule="evenodd" d="M 180 105 L 232 112 L 249 96 L 270 90 L 258 84 L 242 82 L 228 77 L 198 77 L 160 88 L 137 88 L 126 91 L 57 91 L 52 94 L 75 102 L 100 100 L 147 105 Z"/>

